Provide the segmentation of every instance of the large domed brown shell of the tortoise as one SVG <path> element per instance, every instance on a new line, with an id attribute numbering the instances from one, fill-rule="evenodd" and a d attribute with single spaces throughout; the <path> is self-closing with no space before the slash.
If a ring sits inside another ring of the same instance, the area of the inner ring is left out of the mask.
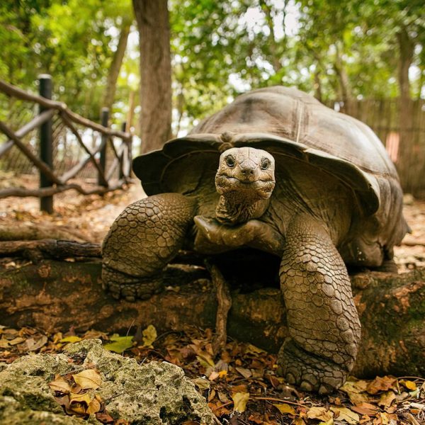
<path id="1" fill-rule="evenodd" d="M 407 231 L 397 171 L 375 133 L 295 88 L 273 86 L 237 97 L 186 137 L 135 158 L 133 170 L 149 196 L 206 195 L 215 191 L 220 153 L 242 146 L 293 157 L 346 183 L 361 215 L 373 217 L 375 230 L 368 238 L 381 236 L 391 248 Z"/>

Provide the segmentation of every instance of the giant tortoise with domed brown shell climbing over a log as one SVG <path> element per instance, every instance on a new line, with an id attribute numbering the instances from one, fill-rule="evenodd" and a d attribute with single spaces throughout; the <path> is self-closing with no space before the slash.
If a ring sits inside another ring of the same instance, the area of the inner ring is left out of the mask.
<path id="1" fill-rule="evenodd" d="M 183 246 L 279 256 L 290 331 L 283 376 L 321 393 L 342 385 L 361 336 L 346 265 L 392 261 L 407 232 L 395 166 L 373 131 L 302 91 L 269 87 L 133 169 L 149 197 L 113 223 L 103 285 L 115 297 L 149 297 Z"/>

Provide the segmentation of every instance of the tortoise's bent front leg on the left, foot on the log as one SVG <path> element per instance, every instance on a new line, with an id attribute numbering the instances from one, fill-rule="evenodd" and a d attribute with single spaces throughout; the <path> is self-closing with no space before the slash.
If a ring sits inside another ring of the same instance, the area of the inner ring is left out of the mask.
<path id="1" fill-rule="evenodd" d="M 195 213 L 196 200 L 179 193 L 128 205 L 103 241 L 103 288 L 129 301 L 158 293 L 159 273 L 181 249 Z"/>

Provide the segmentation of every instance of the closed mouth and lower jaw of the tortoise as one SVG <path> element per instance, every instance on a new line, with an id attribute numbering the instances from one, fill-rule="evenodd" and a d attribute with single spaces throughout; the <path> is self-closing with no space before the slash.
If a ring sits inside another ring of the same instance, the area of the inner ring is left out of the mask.
<path id="1" fill-rule="evenodd" d="M 249 178 L 238 179 L 237 177 L 219 176 L 215 178 L 215 187 L 220 195 L 229 192 L 245 192 L 256 193 L 259 198 L 269 198 L 275 187 L 276 181 L 267 180 L 250 180 Z"/>

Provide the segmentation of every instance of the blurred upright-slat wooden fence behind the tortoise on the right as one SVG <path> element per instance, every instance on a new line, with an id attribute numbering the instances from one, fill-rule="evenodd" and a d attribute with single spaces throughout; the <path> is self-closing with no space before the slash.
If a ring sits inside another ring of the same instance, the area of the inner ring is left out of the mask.
<path id="1" fill-rule="evenodd" d="M 328 106 L 344 111 L 339 102 Z M 409 111 L 401 123 L 401 108 Z M 425 101 L 400 104 L 394 99 L 354 101 L 347 111 L 378 135 L 397 167 L 405 193 L 425 198 Z"/>

